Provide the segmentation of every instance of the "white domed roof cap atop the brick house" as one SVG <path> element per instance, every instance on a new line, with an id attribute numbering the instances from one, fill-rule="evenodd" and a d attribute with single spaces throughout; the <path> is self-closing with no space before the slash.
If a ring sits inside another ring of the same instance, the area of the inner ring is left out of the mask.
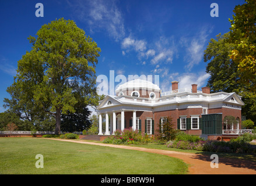
<path id="1" fill-rule="evenodd" d="M 121 90 L 127 90 L 127 89 L 132 89 L 132 88 L 142 88 L 142 89 L 147 89 L 147 90 L 155 90 L 155 91 L 160 91 L 160 88 L 158 85 L 153 84 L 150 81 L 146 80 L 141 80 L 141 79 L 136 79 L 136 80 L 131 80 L 128 81 L 124 84 L 121 84 L 117 87 L 117 90 L 115 92 L 121 91 Z"/>

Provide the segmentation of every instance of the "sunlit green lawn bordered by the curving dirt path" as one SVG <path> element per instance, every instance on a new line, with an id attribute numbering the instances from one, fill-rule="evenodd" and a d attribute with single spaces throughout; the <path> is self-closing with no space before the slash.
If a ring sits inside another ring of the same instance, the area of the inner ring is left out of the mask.
<path id="1" fill-rule="evenodd" d="M 169 156 L 42 138 L 0 138 L 0 174 L 186 174 Z M 36 155 L 44 158 L 37 169 Z"/>

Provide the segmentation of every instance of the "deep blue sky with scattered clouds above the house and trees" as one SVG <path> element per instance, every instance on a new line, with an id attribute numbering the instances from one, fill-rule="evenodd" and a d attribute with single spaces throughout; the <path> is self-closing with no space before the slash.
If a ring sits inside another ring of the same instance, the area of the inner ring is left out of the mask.
<path id="1" fill-rule="evenodd" d="M 43 3 L 44 17 L 36 17 L 36 3 Z M 218 3 L 219 17 L 211 17 L 212 3 Z M 229 31 L 233 9 L 243 0 L 202 1 L 86 1 L 23 0 L 0 2 L 0 112 L 6 88 L 13 83 L 17 61 L 31 50 L 27 38 L 36 36 L 43 24 L 64 17 L 74 20 L 101 48 L 97 76 L 159 75 L 163 91 L 171 81 L 179 88 L 209 78 L 204 50 L 211 38 Z M 115 86 L 119 84 L 115 83 Z M 109 92 L 108 92 L 109 93 Z"/>

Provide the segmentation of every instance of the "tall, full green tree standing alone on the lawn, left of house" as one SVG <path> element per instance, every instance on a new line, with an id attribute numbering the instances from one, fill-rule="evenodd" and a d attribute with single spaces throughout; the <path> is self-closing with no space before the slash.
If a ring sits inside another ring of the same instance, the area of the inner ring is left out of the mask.
<path id="1" fill-rule="evenodd" d="M 61 131 L 62 113 L 75 113 L 75 105 L 97 105 L 96 65 L 100 48 L 72 20 L 59 19 L 44 24 L 33 44 L 18 62 L 15 82 L 10 86 L 19 112 L 55 117 L 55 134 Z M 81 98 L 81 99 L 80 99 Z M 20 109 L 22 108 L 22 109 Z"/>

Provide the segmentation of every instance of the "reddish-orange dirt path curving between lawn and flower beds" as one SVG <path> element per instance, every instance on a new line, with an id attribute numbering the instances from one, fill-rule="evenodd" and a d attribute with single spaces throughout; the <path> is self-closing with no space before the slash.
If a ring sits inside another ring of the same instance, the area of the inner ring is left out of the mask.
<path id="1" fill-rule="evenodd" d="M 51 140 L 59 140 L 52 139 Z M 228 159 L 219 158 L 219 167 L 211 168 L 211 159 L 206 155 L 196 155 L 194 153 L 184 153 L 176 151 L 166 151 L 159 149 L 148 149 L 135 146 L 125 146 L 125 145 L 113 145 L 113 144 L 100 144 L 96 142 L 85 142 L 76 140 L 59 140 L 76 142 L 79 144 L 89 144 L 89 145 L 100 145 L 109 146 L 113 148 L 131 149 L 136 151 L 158 153 L 161 155 L 167 155 L 174 158 L 182 159 L 185 163 L 189 164 L 188 168 L 189 174 L 256 174 L 256 162 L 251 162 L 250 160 L 240 160 L 240 159 Z"/>

